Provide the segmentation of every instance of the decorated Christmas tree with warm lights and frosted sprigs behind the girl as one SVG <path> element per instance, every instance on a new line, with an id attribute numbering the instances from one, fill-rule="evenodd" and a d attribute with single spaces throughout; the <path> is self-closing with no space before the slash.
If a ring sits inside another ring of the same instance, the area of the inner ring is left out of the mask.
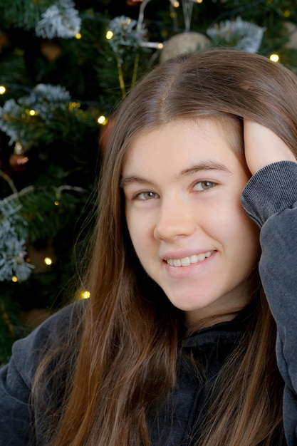
<path id="1" fill-rule="evenodd" d="M 100 156 L 137 79 L 208 46 L 297 71 L 296 24 L 296 0 L 0 0 L 0 362 L 48 313 L 88 297 L 75 271 Z"/>

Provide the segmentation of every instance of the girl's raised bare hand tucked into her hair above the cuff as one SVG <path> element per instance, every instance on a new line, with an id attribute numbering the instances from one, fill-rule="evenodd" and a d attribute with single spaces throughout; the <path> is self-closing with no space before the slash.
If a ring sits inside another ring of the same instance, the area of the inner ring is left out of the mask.
<path id="1" fill-rule="evenodd" d="M 295 161 L 296 157 L 272 130 L 259 123 L 244 120 L 244 151 L 246 164 L 252 175 L 257 170 L 283 160 Z"/>

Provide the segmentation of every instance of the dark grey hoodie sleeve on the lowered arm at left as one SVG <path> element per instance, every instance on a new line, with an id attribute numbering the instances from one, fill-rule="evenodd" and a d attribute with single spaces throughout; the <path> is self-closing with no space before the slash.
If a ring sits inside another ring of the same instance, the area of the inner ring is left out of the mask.
<path id="1" fill-rule="evenodd" d="M 75 305 L 48 318 L 26 338 L 14 343 L 9 363 L 0 368 L 0 446 L 43 445 L 31 402 L 31 389 L 44 347 L 51 348 L 58 333 L 67 332 Z"/>

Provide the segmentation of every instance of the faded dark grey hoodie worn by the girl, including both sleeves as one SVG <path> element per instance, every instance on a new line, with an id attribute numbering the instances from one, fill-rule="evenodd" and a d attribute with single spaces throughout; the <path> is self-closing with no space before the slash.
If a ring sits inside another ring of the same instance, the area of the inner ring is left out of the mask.
<path id="1" fill-rule="evenodd" d="M 297 163 L 278 162 L 261 169 L 244 188 L 242 204 L 261 227 L 259 271 L 278 328 L 276 354 L 285 381 L 283 423 L 286 443 L 293 446 L 297 444 Z M 44 344 L 51 346 L 57 331 L 67 331 L 76 323 L 78 306 L 82 304 L 63 308 L 14 344 L 11 361 L 0 370 L 0 446 L 46 446 L 41 414 L 34 413 L 30 400 L 33 376 Z M 197 356 L 202 351 L 207 354 L 213 375 L 239 339 L 243 322 L 249 318 L 250 310 L 246 310 L 233 321 L 216 324 L 187 341 L 185 348 L 194 347 Z M 222 358 L 217 357 L 217 351 Z M 172 395 L 174 407 L 167 406 L 149 420 L 154 446 L 187 443 L 200 393 L 182 363 L 178 382 L 177 393 Z M 169 419 L 174 423 L 169 425 Z"/>

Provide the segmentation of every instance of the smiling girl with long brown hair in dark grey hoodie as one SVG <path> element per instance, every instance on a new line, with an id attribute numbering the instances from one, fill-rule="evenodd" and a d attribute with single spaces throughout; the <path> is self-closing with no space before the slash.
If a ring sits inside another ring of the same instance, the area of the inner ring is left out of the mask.
<path id="1" fill-rule="evenodd" d="M 296 155 L 280 64 L 147 74 L 105 152 L 90 299 L 15 343 L 0 445 L 296 445 Z"/>

